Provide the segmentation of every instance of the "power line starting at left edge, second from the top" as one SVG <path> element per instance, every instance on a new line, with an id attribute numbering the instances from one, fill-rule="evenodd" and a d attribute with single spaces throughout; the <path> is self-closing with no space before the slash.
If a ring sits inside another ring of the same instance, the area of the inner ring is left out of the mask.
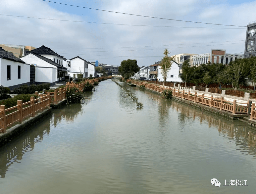
<path id="1" fill-rule="evenodd" d="M 187 27 L 187 26 L 162 26 L 162 25 L 139 25 L 139 24 L 115 24 L 115 23 L 100 23 L 100 22 L 85 22 L 85 21 L 75 21 L 75 20 L 60 20 L 60 19 L 51 19 L 51 18 L 36 18 L 29 16 L 15 16 L 0 14 L 1 16 L 12 16 L 20 18 L 31 18 L 31 19 L 40 19 L 40 20 L 54 20 L 54 21 L 64 21 L 64 22 L 80 22 L 80 23 L 91 23 L 91 24 L 111 24 L 111 25 L 128 25 L 128 26 L 146 26 L 146 27 L 180 27 L 180 28 L 218 28 L 218 29 L 244 29 L 244 28 L 234 28 L 234 27 Z"/>

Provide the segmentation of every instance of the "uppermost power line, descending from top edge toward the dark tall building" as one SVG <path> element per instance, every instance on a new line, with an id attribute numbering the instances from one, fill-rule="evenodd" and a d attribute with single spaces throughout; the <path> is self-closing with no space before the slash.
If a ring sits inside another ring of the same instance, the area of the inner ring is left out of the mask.
<path id="1" fill-rule="evenodd" d="M 46 0 L 41 0 L 41 1 L 46 1 Z M 126 15 L 131 15 L 131 16 L 140 16 L 140 17 L 146 17 L 146 18 L 155 18 L 155 19 L 162 19 L 162 20 L 173 20 L 173 21 L 179 21 L 179 22 L 190 22 L 190 23 L 198 23 L 198 24 L 212 24 L 212 25 L 247 27 L 247 26 L 242 26 L 242 25 L 214 24 L 214 23 L 193 22 L 193 21 L 186 21 L 186 20 L 175 20 L 175 19 L 168 19 L 168 18 L 158 18 L 158 17 L 152 17 L 152 16 L 143 16 L 143 15 L 137 15 L 137 14 L 128 14 L 128 13 L 123 13 L 123 12 L 114 12 L 114 11 L 108 11 L 108 10 L 102 10 L 102 9 L 82 7 L 82 6 L 70 5 L 70 4 L 59 3 L 59 2 L 54 2 L 54 1 L 46 1 L 46 2 L 57 3 L 57 4 L 68 5 L 68 6 L 79 7 L 79 8 L 85 8 L 85 9 L 91 9 L 91 10 L 98 10 L 98 11 L 104 11 L 104 12 L 117 13 L 117 14 L 126 14 Z"/>

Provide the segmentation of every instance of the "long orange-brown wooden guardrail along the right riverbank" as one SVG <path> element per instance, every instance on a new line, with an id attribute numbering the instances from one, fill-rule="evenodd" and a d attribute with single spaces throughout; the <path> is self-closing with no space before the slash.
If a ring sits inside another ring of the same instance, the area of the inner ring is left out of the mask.
<path id="1" fill-rule="evenodd" d="M 157 86 L 154 84 L 142 83 L 142 82 L 134 81 L 134 80 L 129 80 L 129 81 L 131 81 L 131 83 L 133 83 L 135 85 L 143 84 L 143 85 L 145 85 L 145 88 L 148 88 L 148 89 L 151 89 L 151 90 L 154 90 L 157 92 L 163 92 L 163 90 L 166 89 L 163 86 Z M 213 95 L 211 95 L 211 97 L 205 97 L 205 94 L 198 95 L 196 92 L 194 94 L 191 94 L 190 91 L 185 92 L 184 90 L 179 90 L 179 89 L 175 89 L 175 88 L 169 88 L 169 89 L 172 90 L 173 96 L 179 97 L 181 99 L 186 99 L 186 100 L 192 101 L 194 103 L 217 108 L 221 111 L 222 110 L 228 111 L 232 114 L 248 114 L 248 104 L 249 104 L 248 102 L 237 103 L 236 100 L 233 100 L 233 101 L 224 100 L 224 97 L 214 98 Z M 253 119 L 256 119 L 256 110 L 254 110 L 255 108 L 256 108 L 256 106 L 254 106 L 254 108 L 252 107 L 252 109 L 251 109 L 252 110 L 251 113 L 253 113 L 253 114 L 251 114 L 251 118 L 253 118 Z M 252 115 L 254 117 L 252 117 Z"/>

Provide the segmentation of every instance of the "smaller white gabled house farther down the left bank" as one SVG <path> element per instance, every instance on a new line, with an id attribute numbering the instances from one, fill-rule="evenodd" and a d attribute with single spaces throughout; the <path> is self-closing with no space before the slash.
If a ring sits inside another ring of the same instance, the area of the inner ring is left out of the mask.
<path id="1" fill-rule="evenodd" d="M 70 67 L 68 67 L 69 74 L 73 77 L 73 74 L 82 73 L 83 77 L 88 77 L 88 62 L 79 56 L 70 59 Z M 76 75 L 77 76 L 77 75 Z"/>

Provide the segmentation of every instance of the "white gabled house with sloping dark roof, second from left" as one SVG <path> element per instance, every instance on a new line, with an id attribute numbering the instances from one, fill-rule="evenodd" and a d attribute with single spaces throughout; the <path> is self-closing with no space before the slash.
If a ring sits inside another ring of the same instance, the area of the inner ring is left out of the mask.
<path id="1" fill-rule="evenodd" d="M 29 53 L 21 57 L 27 64 L 35 65 L 35 83 L 50 83 L 55 85 L 59 80 L 58 74 L 66 72 L 67 68 L 35 53 Z"/>

